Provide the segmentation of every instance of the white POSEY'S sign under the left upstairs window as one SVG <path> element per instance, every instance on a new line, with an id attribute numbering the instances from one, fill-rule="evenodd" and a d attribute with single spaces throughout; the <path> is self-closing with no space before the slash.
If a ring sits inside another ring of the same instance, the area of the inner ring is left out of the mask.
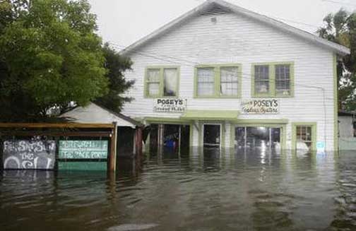
<path id="1" fill-rule="evenodd" d="M 156 99 L 153 112 L 182 113 L 186 109 L 186 100 L 183 99 Z"/>

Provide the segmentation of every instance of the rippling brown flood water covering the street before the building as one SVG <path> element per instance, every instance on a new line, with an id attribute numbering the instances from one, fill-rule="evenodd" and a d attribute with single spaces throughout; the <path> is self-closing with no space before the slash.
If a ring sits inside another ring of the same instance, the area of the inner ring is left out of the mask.
<path id="1" fill-rule="evenodd" d="M 0 230 L 356 230 L 356 152 L 194 150 L 118 167 L 1 172 Z"/>

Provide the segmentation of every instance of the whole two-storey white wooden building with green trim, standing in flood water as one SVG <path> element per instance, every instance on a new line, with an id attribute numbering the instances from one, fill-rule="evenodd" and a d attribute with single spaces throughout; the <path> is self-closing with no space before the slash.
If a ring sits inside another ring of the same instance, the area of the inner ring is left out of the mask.
<path id="1" fill-rule="evenodd" d="M 153 125 L 151 142 L 175 132 L 190 146 L 338 147 L 336 61 L 346 47 L 211 0 L 121 54 L 136 81 L 123 113 Z"/>

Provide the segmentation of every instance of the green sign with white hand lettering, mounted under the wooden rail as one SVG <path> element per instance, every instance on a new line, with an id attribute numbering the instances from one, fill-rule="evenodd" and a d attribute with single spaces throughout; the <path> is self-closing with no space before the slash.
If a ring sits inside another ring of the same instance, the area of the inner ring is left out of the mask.
<path id="1" fill-rule="evenodd" d="M 106 159 L 108 141 L 59 141 L 60 159 Z"/>

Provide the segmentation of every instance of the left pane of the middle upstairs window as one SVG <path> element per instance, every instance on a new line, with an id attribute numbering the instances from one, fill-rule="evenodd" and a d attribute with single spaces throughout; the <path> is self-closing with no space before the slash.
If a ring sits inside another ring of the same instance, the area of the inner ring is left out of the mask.
<path id="1" fill-rule="evenodd" d="M 214 68 L 198 68 L 197 77 L 197 94 L 214 95 Z"/>

